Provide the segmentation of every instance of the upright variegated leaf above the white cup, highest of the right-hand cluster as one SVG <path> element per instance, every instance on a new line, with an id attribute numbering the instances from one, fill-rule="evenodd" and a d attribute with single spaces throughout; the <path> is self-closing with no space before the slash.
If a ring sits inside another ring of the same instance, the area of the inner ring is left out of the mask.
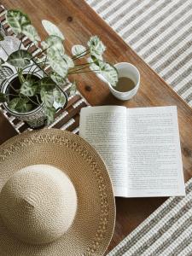
<path id="1" fill-rule="evenodd" d="M 91 37 L 87 44 L 90 48 L 90 55 L 96 57 L 101 56 L 106 49 L 106 46 L 102 44 L 102 41 L 97 36 Z"/>

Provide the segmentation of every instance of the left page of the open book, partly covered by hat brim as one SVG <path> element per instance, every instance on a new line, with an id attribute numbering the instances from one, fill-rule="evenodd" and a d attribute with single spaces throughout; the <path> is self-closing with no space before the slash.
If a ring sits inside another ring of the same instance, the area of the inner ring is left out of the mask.
<path id="1" fill-rule="evenodd" d="M 127 195 L 126 108 L 82 108 L 79 135 L 96 148 L 108 168 L 115 196 Z"/>

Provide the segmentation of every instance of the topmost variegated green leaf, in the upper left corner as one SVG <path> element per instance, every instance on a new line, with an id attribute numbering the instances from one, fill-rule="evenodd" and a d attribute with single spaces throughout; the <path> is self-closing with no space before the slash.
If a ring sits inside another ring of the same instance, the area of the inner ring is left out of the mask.
<path id="1" fill-rule="evenodd" d="M 31 20 L 28 16 L 16 9 L 9 9 L 6 14 L 6 19 L 16 35 L 22 32 L 23 26 L 31 24 Z"/>

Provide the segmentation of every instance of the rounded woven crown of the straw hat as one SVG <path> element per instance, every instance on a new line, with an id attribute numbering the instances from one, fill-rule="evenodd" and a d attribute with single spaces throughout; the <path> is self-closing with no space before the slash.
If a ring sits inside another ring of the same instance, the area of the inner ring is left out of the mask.
<path id="1" fill-rule="evenodd" d="M 3 223 L 14 236 L 44 244 L 73 224 L 77 195 L 71 180 L 54 166 L 26 166 L 5 183 L 0 204 Z"/>

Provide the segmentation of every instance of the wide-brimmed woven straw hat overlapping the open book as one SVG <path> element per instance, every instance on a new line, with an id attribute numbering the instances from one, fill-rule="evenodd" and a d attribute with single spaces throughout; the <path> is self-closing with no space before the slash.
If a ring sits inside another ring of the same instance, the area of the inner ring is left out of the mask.
<path id="1" fill-rule="evenodd" d="M 0 148 L 0 255 L 102 255 L 115 205 L 106 166 L 67 131 L 44 129 Z"/>

